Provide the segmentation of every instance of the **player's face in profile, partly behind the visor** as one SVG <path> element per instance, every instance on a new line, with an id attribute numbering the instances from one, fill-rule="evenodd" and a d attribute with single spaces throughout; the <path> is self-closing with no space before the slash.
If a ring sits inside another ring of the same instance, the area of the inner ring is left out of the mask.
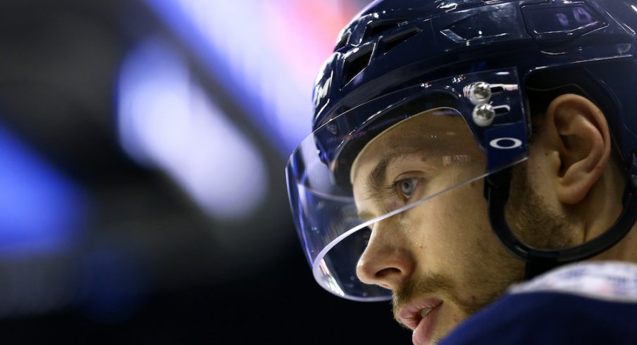
<path id="1" fill-rule="evenodd" d="M 414 142 L 412 132 L 454 139 L 432 147 Z M 361 151 L 352 167 L 354 199 L 361 218 L 375 218 L 484 170 L 484 155 L 462 118 L 416 118 Z M 419 345 L 444 337 L 493 301 L 523 268 L 490 230 L 477 180 L 375 223 L 357 274 L 392 290 L 395 317 L 415 329 Z"/>

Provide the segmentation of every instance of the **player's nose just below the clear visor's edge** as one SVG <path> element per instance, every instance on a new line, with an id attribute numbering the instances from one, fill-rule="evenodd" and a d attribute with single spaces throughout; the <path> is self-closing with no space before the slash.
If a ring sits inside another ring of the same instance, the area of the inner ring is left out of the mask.
<path id="1" fill-rule="evenodd" d="M 357 264 L 359 280 L 392 291 L 399 289 L 414 272 L 414 256 L 408 244 L 402 234 L 377 223 Z"/>

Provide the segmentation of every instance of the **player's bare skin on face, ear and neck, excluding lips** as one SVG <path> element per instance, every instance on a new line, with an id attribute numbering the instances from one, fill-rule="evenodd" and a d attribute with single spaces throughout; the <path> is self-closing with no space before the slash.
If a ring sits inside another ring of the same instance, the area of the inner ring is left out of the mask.
<path id="1" fill-rule="evenodd" d="M 484 172 L 486 158 L 464 120 L 436 113 L 395 125 L 359 153 L 351 177 L 361 218 L 384 215 Z M 560 248 L 607 230 L 621 211 L 626 181 L 611 148 L 605 117 L 592 102 L 574 94 L 552 101 L 530 158 L 514 169 L 506 216 L 517 236 L 540 248 Z M 393 159 L 385 174 L 374 174 L 387 157 Z M 593 259 L 637 262 L 636 229 Z M 443 301 L 433 328 L 437 342 L 521 280 L 524 263 L 490 230 L 483 182 L 476 180 L 374 224 L 357 275 L 392 290 L 395 314 L 417 299 Z"/>

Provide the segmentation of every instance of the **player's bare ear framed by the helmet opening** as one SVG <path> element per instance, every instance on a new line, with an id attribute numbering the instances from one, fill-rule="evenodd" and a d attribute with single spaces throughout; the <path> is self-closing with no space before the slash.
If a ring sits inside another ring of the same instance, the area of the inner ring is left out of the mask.
<path id="1" fill-rule="evenodd" d="M 604 114 L 583 96 L 563 94 L 548 106 L 548 140 L 557 151 L 557 198 L 562 203 L 582 201 L 604 172 L 612 142 Z"/>

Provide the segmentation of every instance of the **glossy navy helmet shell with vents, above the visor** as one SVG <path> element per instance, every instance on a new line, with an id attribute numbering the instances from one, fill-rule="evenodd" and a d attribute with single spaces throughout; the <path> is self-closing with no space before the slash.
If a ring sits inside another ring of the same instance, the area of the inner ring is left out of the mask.
<path id="1" fill-rule="evenodd" d="M 601 0 L 375 1 L 342 30 L 316 78 L 314 130 L 414 84 L 516 68 L 523 84 L 536 73 L 555 76 L 543 79 L 547 88 L 577 76 L 630 164 L 637 149 L 636 10 L 637 3 Z M 316 140 L 330 165 L 337 151 Z"/>

